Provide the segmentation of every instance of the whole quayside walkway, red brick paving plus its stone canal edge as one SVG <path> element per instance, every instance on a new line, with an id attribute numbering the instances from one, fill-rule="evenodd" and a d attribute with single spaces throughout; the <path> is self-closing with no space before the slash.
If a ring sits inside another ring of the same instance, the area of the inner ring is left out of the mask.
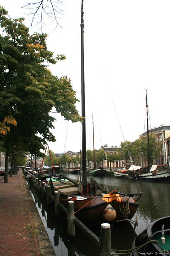
<path id="1" fill-rule="evenodd" d="M 20 170 L 8 183 L 0 180 L 0 255 L 55 255 L 29 194 Z"/>

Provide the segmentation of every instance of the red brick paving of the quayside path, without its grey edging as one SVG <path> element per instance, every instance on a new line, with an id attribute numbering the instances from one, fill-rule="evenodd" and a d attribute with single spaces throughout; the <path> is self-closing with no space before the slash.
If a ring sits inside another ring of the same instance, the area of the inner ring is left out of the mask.
<path id="1" fill-rule="evenodd" d="M 0 181 L 0 255 L 39 256 L 24 178 L 19 174 L 8 177 L 8 183 Z"/>

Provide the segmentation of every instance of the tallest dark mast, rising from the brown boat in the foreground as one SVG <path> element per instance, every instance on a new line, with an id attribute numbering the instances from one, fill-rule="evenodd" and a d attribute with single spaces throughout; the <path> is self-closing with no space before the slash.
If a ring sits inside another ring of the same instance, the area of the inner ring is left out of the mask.
<path id="1" fill-rule="evenodd" d="M 85 113 L 85 93 L 84 93 L 84 20 L 83 20 L 83 0 L 81 9 L 81 74 L 82 74 L 82 185 L 87 185 L 87 172 L 86 172 L 86 113 Z"/>

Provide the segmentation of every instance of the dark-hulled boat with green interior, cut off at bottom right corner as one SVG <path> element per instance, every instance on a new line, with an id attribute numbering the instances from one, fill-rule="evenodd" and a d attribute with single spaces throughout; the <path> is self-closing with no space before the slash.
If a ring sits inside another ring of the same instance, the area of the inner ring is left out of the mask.
<path id="1" fill-rule="evenodd" d="M 140 249 L 139 246 L 141 247 Z M 147 229 L 134 239 L 132 249 L 134 249 L 133 256 L 151 254 L 169 255 L 170 216 L 151 222 Z"/>

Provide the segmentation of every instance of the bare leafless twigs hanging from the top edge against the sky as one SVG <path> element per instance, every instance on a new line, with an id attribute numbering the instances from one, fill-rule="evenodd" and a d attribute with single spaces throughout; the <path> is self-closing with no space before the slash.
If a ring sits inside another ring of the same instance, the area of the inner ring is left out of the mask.
<path id="1" fill-rule="evenodd" d="M 64 0 L 40 0 L 35 3 L 28 3 L 22 8 L 29 10 L 27 14 L 32 15 L 31 26 L 33 26 L 33 23 L 36 21 L 36 26 L 40 25 L 42 31 L 43 24 L 46 25 L 46 23 L 44 23 L 46 18 L 51 18 L 52 22 L 55 21 L 56 27 L 61 27 L 58 20 L 60 16 L 64 15 L 63 9 L 60 8 L 60 6 L 64 4 Z"/>

